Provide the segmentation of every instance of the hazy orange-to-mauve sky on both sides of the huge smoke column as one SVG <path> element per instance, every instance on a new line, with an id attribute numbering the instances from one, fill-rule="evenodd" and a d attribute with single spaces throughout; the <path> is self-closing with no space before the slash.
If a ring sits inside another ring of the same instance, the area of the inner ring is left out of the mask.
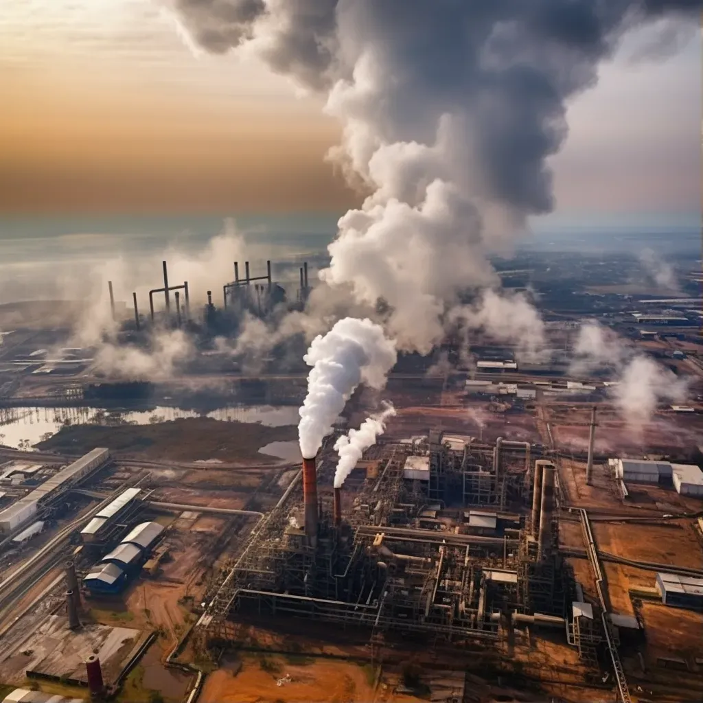
<path id="1" fill-rule="evenodd" d="M 701 38 L 657 63 L 640 32 L 569 106 L 555 218 L 700 208 Z M 195 51 L 152 0 L 1 0 L 0 213 L 338 212 L 316 98 Z"/>

